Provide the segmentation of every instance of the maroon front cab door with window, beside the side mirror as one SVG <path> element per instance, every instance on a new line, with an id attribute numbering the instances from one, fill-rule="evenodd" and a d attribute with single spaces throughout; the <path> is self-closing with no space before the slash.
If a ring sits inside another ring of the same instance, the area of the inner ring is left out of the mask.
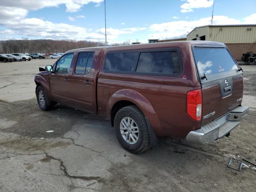
<path id="1" fill-rule="evenodd" d="M 59 102 L 70 104 L 70 95 L 73 94 L 68 90 L 70 81 L 70 65 L 74 53 L 68 53 L 62 56 L 54 65 L 54 72 L 50 73 L 50 88 L 52 96 Z"/>

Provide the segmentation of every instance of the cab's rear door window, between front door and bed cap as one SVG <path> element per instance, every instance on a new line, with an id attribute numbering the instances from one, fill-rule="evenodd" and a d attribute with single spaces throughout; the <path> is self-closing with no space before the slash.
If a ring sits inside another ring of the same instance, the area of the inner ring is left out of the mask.
<path id="1" fill-rule="evenodd" d="M 87 74 L 90 72 L 92 67 L 94 52 L 83 52 L 79 53 L 76 62 L 76 74 Z"/>

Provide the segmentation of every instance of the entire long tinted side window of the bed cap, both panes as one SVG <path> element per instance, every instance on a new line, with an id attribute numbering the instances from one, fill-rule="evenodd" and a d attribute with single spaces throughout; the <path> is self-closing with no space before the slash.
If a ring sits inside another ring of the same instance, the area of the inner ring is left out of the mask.
<path id="1" fill-rule="evenodd" d="M 181 63 L 176 50 L 108 53 L 104 71 L 178 74 Z"/>

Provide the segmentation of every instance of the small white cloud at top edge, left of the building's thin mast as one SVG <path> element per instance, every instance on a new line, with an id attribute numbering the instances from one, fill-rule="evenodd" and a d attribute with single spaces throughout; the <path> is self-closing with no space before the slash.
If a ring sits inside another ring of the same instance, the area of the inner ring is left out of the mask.
<path id="1" fill-rule="evenodd" d="M 213 0 L 186 0 L 186 3 L 180 6 L 180 12 L 193 12 L 194 8 L 207 8 L 212 6 Z"/>

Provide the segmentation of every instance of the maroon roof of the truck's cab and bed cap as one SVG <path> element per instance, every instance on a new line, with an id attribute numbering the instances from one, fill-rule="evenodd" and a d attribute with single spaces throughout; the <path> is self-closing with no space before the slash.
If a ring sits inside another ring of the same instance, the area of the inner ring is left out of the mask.
<path id="1" fill-rule="evenodd" d="M 173 41 L 173 42 L 158 42 L 158 43 L 145 43 L 135 45 L 122 45 L 122 46 L 100 46 L 100 47 L 86 47 L 73 49 L 70 51 L 87 50 L 87 49 L 103 49 L 106 51 L 118 51 L 118 50 L 136 50 L 136 49 L 148 49 L 148 48 L 168 48 L 168 47 L 180 47 L 180 46 L 192 46 L 192 45 L 214 45 L 225 46 L 223 43 L 214 41 Z M 68 52 L 70 52 L 68 51 Z"/>

